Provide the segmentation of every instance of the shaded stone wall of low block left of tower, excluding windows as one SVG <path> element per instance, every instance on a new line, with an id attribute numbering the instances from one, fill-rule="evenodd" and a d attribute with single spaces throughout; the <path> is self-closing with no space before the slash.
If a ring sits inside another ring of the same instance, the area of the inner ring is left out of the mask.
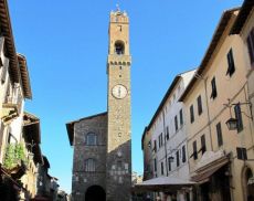
<path id="1" fill-rule="evenodd" d="M 105 187 L 107 114 L 81 119 L 74 125 L 74 159 L 72 193 L 75 201 L 85 200 L 85 192 L 92 186 Z M 87 145 L 86 135 L 95 134 L 97 145 Z M 95 159 L 95 171 L 86 171 L 85 161 Z"/>

